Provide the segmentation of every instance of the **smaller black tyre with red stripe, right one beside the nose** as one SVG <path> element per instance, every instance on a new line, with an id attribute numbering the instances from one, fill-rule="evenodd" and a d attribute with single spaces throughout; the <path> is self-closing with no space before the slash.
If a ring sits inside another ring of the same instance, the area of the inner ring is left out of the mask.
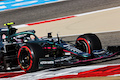
<path id="1" fill-rule="evenodd" d="M 80 49 L 83 52 L 92 54 L 93 50 L 102 49 L 102 45 L 100 39 L 95 34 L 84 34 L 80 35 L 76 40 L 76 48 Z"/>

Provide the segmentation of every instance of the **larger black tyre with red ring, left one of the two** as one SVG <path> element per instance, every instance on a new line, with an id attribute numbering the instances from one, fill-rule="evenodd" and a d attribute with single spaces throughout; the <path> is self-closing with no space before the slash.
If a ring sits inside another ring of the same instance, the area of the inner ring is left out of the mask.
<path id="1" fill-rule="evenodd" d="M 18 52 L 18 63 L 25 72 L 33 72 L 39 69 L 39 58 L 44 57 L 43 49 L 35 43 L 27 43 Z"/>

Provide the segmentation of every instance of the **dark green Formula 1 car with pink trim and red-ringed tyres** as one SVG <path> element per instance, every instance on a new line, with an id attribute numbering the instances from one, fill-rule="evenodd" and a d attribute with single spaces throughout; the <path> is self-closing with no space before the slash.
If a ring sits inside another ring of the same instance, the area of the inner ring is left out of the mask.
<path id="1" fill-rule="evenodd" d="M 41 68 L 78 64 L 116 55 L 109 47 L 103 50 L 99 38 L 95 34 L 80 35 L 75 45 L 69 45 L 59 38 L 38 38 L 34 30 L 17 33 L 17 29 L 4 24 L 8 28 L 0 29 L 0 70 L 20 66 L 26 72 Z M 116 49 L 116 48 L 115 48 Z"/>

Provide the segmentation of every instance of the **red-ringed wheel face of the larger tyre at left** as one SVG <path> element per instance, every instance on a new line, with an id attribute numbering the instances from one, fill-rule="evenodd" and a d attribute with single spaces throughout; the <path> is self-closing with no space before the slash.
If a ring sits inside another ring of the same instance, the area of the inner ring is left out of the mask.
<path id="1" fill-rule="evenodd" d="M 27 46 L 22 46 L 18 51 L 18 64 L 21 69 L 28 71 L 33 64 L 32 52 Z"/>

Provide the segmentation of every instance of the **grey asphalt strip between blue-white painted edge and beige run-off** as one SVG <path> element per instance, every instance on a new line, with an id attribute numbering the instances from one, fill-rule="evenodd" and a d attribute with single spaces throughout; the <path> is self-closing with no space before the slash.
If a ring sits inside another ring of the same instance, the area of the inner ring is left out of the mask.
<path id="1" fill-rule="evenodd" d="M 42 21 L 120 6 L 120 0 L 66 0 L 59 3 L 0 12 L 0 27 L 10 21 L 16 25 Z"/>

